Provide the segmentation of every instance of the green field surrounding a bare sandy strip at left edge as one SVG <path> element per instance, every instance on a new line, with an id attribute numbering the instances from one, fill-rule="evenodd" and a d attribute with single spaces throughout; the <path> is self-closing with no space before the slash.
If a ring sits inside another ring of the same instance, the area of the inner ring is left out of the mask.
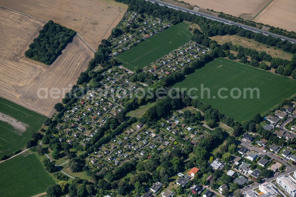
<path id="1" fill-rule="evenodd" d="M 4 155 L 13 154 L 18 149 L 23 148 L 31 138 L 32 133 L 37 132 L 46 120 L 45 116 L 1 97 L 0 113 L 28 125 L 25 132 L 22 132 L 11 124 L 0 120 L 0 158 Z"/>

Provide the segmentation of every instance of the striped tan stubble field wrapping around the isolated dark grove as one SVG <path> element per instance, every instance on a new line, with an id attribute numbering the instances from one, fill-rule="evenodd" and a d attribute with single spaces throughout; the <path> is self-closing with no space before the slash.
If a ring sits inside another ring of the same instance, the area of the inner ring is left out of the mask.
<path id="1" fill-rule="evenodd" d="M 57 98 L 38 98 L 38 90 L 62 91 L 69 84 L 72 87 L 80 72 L 87 68 L 93 51 L 75 35 L 49 67 L 28 61 L 24 53 L 44 22 L 3 8 L 0 13 L 0 96 L 50 117 L 54 104 L 61 101 L 64 93 L 55 95 Z M 41 96 L 45 96 L 42 93 Z"/>

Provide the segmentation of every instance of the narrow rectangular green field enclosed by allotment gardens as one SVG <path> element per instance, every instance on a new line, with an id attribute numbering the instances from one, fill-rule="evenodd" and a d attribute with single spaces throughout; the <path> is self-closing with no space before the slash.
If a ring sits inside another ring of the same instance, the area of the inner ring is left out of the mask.
<path id="1" fill-rule="evenodd" d="M 173 25 L 117 55 L 115 59 L 129 70 L 134 70 L 135 67 L 144 68 L 187 43 L 192 36 L 192 33 L 188 31 L 188 27 L 185 22 Z"/>

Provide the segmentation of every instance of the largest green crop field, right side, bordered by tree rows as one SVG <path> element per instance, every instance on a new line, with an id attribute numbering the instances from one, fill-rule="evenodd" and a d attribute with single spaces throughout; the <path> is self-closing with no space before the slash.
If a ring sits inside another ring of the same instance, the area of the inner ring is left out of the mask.
<path id="1" fill-rule="evenodd" d="M 204 91 L 204 98 L 201 98 L 201 84 L 204 85 L 204 88 L 210 89 L 210 98 L 208 98 L 207 91 Z M 242 122 L 249 120 L 256 113 L 266 113 L 273 106 L 279 104 L 282 99 L 293 96 L 296 93 L 296 80 L 229 59 L 218 58 L 186 76 L 174 87 L 187 88 L 187 90 L 196 87 L 198 91 L 192 91 L 192 96 L 198 96 L 198 100 L 210 104 L 226 116 Z M 218 98 L 220 88 L 228 89 L 228 91 L 221 91 L 220 94 L 228 96 L 228 98 Z M 232 98 L 238 96 L 239 92 L 235 90 L 231 94 L 233 88 L 238 88 L 242 93 L 238 99 Z M 258 88 L 259 98 L 257 99 L 257 92 L 254 91 L 253 99 L 250 99 L 250 91 L 244 93 L 243 88 Z"/>

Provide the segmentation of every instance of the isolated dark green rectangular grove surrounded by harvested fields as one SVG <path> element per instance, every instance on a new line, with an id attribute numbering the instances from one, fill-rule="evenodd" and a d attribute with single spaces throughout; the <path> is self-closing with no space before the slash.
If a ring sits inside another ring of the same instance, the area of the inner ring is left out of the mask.
<path id="1" fill-rule="evenodd" d="M 74 30 L 50 20 L 39 31 L 39 35 L 37 38 L 34 38 L 33 43 L 29 45 L 25 56 L 49 65 L 69 43 L 75 33 Z"/>

